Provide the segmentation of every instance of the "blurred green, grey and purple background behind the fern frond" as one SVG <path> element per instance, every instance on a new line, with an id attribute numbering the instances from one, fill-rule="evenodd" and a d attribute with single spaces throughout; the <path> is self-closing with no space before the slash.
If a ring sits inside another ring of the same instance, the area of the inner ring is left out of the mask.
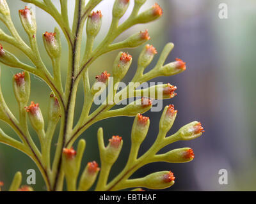
<path id="1" fill-rule="evenodd" d="M 19 0 L 7 0 L 12 18 L 22 38 L 28 42 L 26 33 L 20 24 L 18 10 L 26 6 Z M 57 0 L 54 3 L 60 7 Z M 75 0 L 70 0 L 70 20 L 74 10 Z M 143 177 L 148 173 L 159 170 L 172 170 L 175 173 L 175 185 L 170 191 L 254 191 L 256 190 L 256 139 L 255 139 L 255 31 L 256 31 L 256 2 L 253 0 L 148 0 L 142 10 L 157 2 L 164 8 L 163 18 L 146 25 L 136 25 L 126 31 L 118 40 L 125 39 L 140 30 L 148 29 L 152 40 L 150 43 L 159 52 L 168 42 L 175 43 L 168 62 L 180 57 L 188 64 L 184 73 L 175 77 L 157 78 L 152 82 L 170 82 L 177 85 L 178 96 L 171 101 L 164 101 L 164 105 L 173 103 L 179 110 L 178 117 L 170 133 L 174 133 L 180 126 L 193 120 L 202 122 L 205 133 L 201 138 L 191 142 L 177 142 L 168 149 L 191 147 L 195 152 L 195 160 L 185 164 L 156 163 L 147 165 L 139 170 L 134 177 Z M 228 18 L 220 19 L 219 5 L 228 6 Z M 133 4 L 133 1 L 131 1 Z M 102 30 L 97 37 L 96 45 L 108 31 L 111 23 L 111 7 L 113 0 L 102 1 L 95 10 L 102 10 L 104 16 Z M 131 13 L 129 11 L 122 18 L 124 20 Z M 38 24 L 38 44 L 44 62 L 51 70 L 51 61 L 45 52 L 40 35 L 45 31 L 52 32 L 56 22 L 44 11 L 36 8 Z M 3 24 L 1 29 L 6 31 Z M 67 70 L 67 43 L 63 39 L 62 75 L 65 81 Z M 84 43 L 86 36 L 84 34 Z M 20 54 L 19 50 L 3 43 L 4 48 L 16 54 L 20 61 L 30 63 Z M 96 46 L 95 45 L 95 46 Z M 128 50 L 134 57 L 134 63 L 129 70 L 125 82 L 131 80 L 136 69 L 136 61 L 143 47 Z M 101 71 L 109 71 L 117 52 L 106 54 L 93 63 L 90 69 L 90 78 L 93 79 Z M 157 61 L 152 62 L 153 68 Z M 104 66 L 102 66 L 104 64 Z M 149 68 L 149 69 L 150 69 Z M 17 103 L 12 91 L 12 77 L 19 70 L 1 66 L 1 86 L 6 103 L 17 115 Z M 40 103 L 40 108 L 47 120 L 47 105 L 50 89 L 40 78 L 31 76 L 31 100 Z M 83 89 L 77 93 L 76 119 L 83 105 Z M 158 122 L 161 112 L 148 112 L 150 117 L 150 131 L 147 140 L 143 143 L 140 154 L 143 154 L 154 142 L 158 131 Z M 18 116 L 18 115 L 17 115 Z M 97 129 L 104 128 L 106 142 L 112 135 L 120 135 L 124 139 L 124 148 L 118 162 L 111 171 L 111 178 L 122 170 L 129 154 L 130 132 L 133 118 L 119 117 L 98 122 L 88 129 L 81 138 L 85 138 L 87 147 L 83 159 L 83 166 L 88 161 L 99 162 L 97 147 Z M 8 135 L 16 138 L 12 129 L 3 122 L 0 127 Z M 38 143 L 37 136 L 31 129 L 33 138 Z M 56 135 L 57 136 L 57 135 Z M 56 136 L 55 141 L 56 143 Z M 76 146 L 76 145 L 75 145 Z M 52 149 L 53 150 L 53 149 Z M 163 152 L 164 152 L 163 150 Z M 0 180 L 5 183 L 4 189 L 16 171 L 22 171 L 23 184 L 26 183 L 26 171 L 36 170 L 36 186 L 34 189 L 44 191 L 45 185 L 35 164 L 28 156 L 18 150 L 0 144 Z M 220 185 L 218 171 L 228 171 L 228 185 Z"/>

